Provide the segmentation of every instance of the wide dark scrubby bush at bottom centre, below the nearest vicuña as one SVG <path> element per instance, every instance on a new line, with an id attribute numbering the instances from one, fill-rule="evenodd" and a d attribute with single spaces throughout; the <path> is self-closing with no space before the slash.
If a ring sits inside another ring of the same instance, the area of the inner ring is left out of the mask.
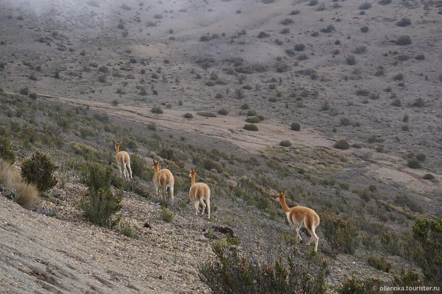
<path id="1" fill-rule="evenodd" d="M 327 290 L 327 262 L 314 252 L 291 250 L 276 262 L 253 261 L 240 251 L 239 239 L 214 243 L 214 260 L 198 268 L 199 277 L 216 293 L 317 293 Z M 281 254 L 282 255 L 282 254 Z M 283 260 L 282 260 L 283 259 Z M 312 278 L 314 277 L 314 278 Z"/>

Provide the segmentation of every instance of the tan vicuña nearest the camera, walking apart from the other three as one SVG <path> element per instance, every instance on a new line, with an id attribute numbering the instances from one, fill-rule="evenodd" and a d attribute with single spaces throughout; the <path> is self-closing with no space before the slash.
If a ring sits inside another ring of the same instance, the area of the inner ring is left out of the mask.
<path id="1" fill-rule="evenodd" d="M 287 191 L 285 193 L 282 193 L 279 191 L 279 194 L 277 195 L 277 199 L 281 203 L 282 209 L 287 215 L 287 220 L 289 220 L 289 224 L 293 227 L 293 229 L 296 232 L 297 238 L 302 240 L 301 236 L 299 236 L 299 229 L 301 227 L 304 227 L 307 229 L 307 231 L 310 233 L 311 238 L 306 243 L 306 245 L 309 245 L 311 241 L 314 239 L 314 251 L 318 251 L 318 241 L 319 238 L 314 232 L 316 227 L 319 226 L 320 219 L 319 215 L 314 212 L 313 209 L 303 206 L 295 206 L 292 208 L 289 208 L 286 204 L 286 195 Z"/>

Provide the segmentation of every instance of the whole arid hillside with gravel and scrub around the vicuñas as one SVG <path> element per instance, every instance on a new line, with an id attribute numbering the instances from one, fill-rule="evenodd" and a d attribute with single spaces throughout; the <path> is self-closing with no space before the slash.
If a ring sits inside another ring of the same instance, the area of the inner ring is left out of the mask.
<path id="1" fill-rule="evenodd" d="M 227 242 L 220 227 L 254 261 L 298 246 L 279 190 L 322 217 L 327 291 L 422 277 L 413 224 L 442 216 L 441 20 L 440 1 L 1 1 L 0 154 L 20 170 L 42 151 L 58 183 L 30 210 L 2 197 L 0 290 L 210 292 L 198 266 Z M 82 206 L 88 164 L 115 171 L 111 230 Z M 194 215 L 191 168 L 210 220 Z M 330 213 L 354 226 L 351 252 L 327 240 Z"/>

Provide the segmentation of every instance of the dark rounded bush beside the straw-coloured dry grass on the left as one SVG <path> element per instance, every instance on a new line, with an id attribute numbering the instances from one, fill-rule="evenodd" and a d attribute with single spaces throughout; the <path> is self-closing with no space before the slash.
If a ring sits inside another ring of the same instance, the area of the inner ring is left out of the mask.
<path id="1" fill-rule="evenodd" d="M 58 166 L 50 158 L 39 151 L 21 163 L 21 175 L 23 178 L 37 186 L 40 193 L 54 187 L 58 180 L 52 174 Z"/>

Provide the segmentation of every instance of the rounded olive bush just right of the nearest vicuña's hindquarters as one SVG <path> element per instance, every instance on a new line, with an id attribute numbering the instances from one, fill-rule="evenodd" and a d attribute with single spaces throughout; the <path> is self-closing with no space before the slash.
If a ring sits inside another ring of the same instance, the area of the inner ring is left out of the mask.
<path id="1" fill-rule="evenodd" d="M 335 253 L 353 254 L 359 246 L 356 227 L 333 213 L 321 213 L 321 231 Z"/>

